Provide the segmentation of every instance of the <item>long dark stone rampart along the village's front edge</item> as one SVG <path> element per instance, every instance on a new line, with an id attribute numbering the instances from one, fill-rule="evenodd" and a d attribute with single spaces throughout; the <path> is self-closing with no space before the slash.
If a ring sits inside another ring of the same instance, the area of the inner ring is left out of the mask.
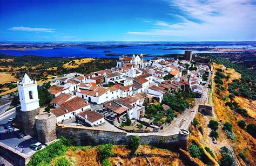
<path id="1" fill-rule="evenodd" d="M 113 143 L 114 145 L 129 145 L 133 135 L 140 138 L 140 142 L 146 145 L 154 145 L 169 149 L 182 148 L 187 149 L 189 132 L 181 131 L 174 135 L 160 135 L 160 133 L 126 133 L 123 131 L 105 131 L 102 129 L 92 129 L 87 127 L 78 127 L 57 124 L 57 137 L 64 136 L 72 138 L 75 145 L 100 145 Z"/>

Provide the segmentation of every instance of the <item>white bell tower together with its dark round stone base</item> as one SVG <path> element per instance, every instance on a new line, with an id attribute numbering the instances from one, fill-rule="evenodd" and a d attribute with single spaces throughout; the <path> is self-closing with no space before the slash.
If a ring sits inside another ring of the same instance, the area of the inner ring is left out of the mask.
<path id="1" fill-rule="evenodd" d="M 36 134 L 35 116 L 39 112 L 39 99 L 37 82 L 24 75 L 21 82 L 17 82 L 19 101 L 21 107 L 16 107 L 18 121 L 21 122 L 23 132 L 26 135 Z"/>

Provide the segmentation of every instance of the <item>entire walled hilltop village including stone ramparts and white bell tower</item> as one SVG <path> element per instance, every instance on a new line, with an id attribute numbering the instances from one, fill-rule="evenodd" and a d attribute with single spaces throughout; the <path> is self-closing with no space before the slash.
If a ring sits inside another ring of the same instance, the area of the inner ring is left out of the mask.
<path id="1" fill-rule="evenodd" d="M 212 114 L 208 62 L 192 57 L 192 51 L 179 59 L 120 56 L 111 69 L 70 73 L 40 85 L 51 98 L 43 107 L 40 86 L 25 74 L 17 82 L 21 105 L 12 125 L 27 135 L 26 142 L 37 140 L 33 146 L 48 146 L 62 136 L 76 145 L 129 145 L 138 136 L 145 145 L 186 150 L 197 112 Z M 7 140 L 6 149 L 12 149 L 14 143 Z M 25 148 L 24 153 L 35 152 Z"/>

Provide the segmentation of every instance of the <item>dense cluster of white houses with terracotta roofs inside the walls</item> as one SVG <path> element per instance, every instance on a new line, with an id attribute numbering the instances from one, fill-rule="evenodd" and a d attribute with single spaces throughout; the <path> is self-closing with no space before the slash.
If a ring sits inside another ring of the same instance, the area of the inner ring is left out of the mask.
<path id="1" fill-rule="evenodd" d="M 145 105 L 161 103 L 167 93 L 193 92 L 197 98 L 207 95 L 203 88 L 211 67 L 192 62 L 192 52 L 187 54 L 185 60 L 154 57 L 144 61 L 142 54 L 122 56 L 116 68 L 56 80 L 48 89 L 53 98 L 50 112 L 57 122 L 76 117 L 92 127 L 106 121 L 120 127 L 128 119 L 148 123 L 152 120 L 145 118 Z"/>

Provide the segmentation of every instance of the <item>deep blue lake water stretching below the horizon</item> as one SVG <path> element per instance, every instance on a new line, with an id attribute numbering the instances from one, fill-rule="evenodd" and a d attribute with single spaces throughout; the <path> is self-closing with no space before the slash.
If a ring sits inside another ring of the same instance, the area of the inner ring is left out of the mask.
<path id="1" fill-rule="evenodd" d="M 248 45 L 247 45 L 248 46 Z M 28 50 L 0 50 L 0 53 L 7 55 L 37 55 L 37 56 L 46 56 L 46 57 L 67 57 L 67 56 L 78 56 L 78 57 L 118 57 L 118 56 L 106 56 L 104 53 L 105 50 L 111 51 L 114 54 L 151 54 L 151 55 L 164 55 L 164 54 L 184 54 L 184 50 L 173 49 L 173 50 L 163 50 L 156 48 L 179 48 L 186 46 L 163 46 L 163 45 L 148 45 L 148 46 L 131 46 L 123 48 L 96 48 L 96 49 L 87 49 L 85 47 L 59 47 L 53 49 L 28 49 Z M 193 47 L 193 46 L 192 46 Z M 242 48 L 246 47 L 245 45 L 236 45 L 236 46 L 218 46 L 224 48 Z M 193 53 L 212 53 L 208 51 L 197 51 L 193 50 Z M 152 57 L 146 57 L 145 59 L 151 59 Z"/>

